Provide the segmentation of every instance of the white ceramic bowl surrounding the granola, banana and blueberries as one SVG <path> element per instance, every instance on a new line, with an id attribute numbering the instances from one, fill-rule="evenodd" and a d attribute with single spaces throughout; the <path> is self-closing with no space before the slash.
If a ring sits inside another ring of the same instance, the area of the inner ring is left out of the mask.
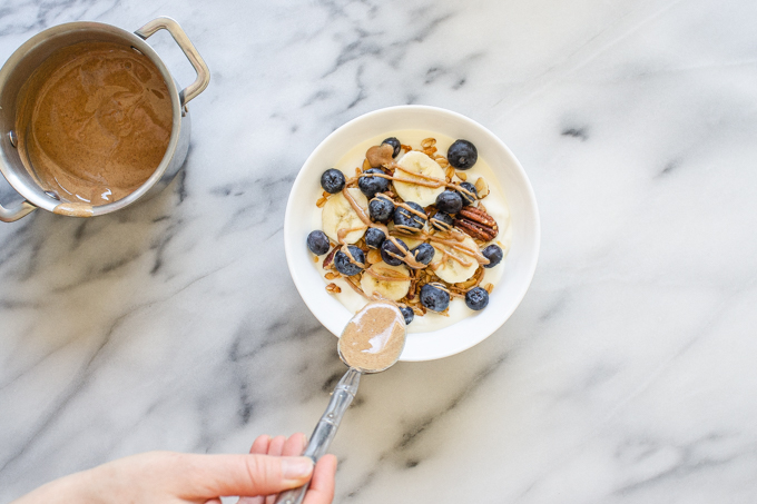
<path id="1" fill-rule="evenodd" d="M 299 295 L 318 320 L 338 336 L 353 316 L 325 289 L 305 240 L 313 230 L 313 213 L 321 211 L 321 175 L 355 145 L 393 131 L 420 129 L 472 141 L 479 156 L 494 171 L 510 208 L 512 243 L 502 278 L 489 306 L 443 329 L 409 334 L 400 360 L 431 360 L 456 354 L 480 343 L 512 315 L 531 284 L 539 256 L 539 210 L 525 171 L 510 149 L 478 122 L 449 110 L 423 107 L 390 107 L 365 113 L 342 126 L 321 142 L 297 175 L 284 218 L 284 248 L 289 273 Z"/>

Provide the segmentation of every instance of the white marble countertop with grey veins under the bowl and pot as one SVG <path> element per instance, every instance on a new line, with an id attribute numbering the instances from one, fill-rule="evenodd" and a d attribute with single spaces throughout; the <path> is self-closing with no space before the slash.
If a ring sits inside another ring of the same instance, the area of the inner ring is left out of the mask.
<path id="1" fill-rule="evenodd" d="M 289 186 L 334 128 L 401 103 L 510 146 L 542 251 L 484 343 L 363 379 L 336 502 L 757 501 L 755 2 L 6 1 L 0 57 L 160 14 L 213 72 L 185 175 L 111 216 L 0 226 L 0 502 L 309 433 L 344 367 L 287 271 Z"/>

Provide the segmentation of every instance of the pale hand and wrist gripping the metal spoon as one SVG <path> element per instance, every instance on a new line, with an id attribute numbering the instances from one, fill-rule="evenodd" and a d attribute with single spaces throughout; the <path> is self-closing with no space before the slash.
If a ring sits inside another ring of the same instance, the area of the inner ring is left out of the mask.
<path id="1" fill-rule="evenodd" d="M 336 457 L 315 466 L 299 456 L 305 435 L 259 436 L 249 455 L 195 455 L 148 452 L 61 477 L 11 504 L 220 504 L 242 495 L 239 504 L 273 504 L 276 495 L 311 482 L 304 504 L 334 498 Z"/>

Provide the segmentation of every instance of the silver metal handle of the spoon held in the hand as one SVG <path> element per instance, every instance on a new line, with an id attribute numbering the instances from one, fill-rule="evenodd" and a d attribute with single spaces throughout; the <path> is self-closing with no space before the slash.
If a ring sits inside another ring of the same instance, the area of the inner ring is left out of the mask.
<path id="1" fill-rule="evenodd" d="M 323 412 L 323 416 L 321 416 L 318 424 L 311 435 L 311 442 L 307 444 L 307 448 L 305 448 L 304 456 L 313 458 L 313 462 L 318 462 L 318 458 L 326 453 L 328 445 L 331 445 L 332 439 L 336 435 L 336 429 L 340 427 L 344 412 L 347 411 L 352 399 L 357 394 L 357 385 L 360 385 L 360 372 L 351 367 L 342 376 L 336 388 L 334 388 L 328 406 Z M 308 485 L 309 482 L 299 488 L 282 492 L 276 500 L 276 504 L 301 504 L 303 498 L 305 498 Z"/>

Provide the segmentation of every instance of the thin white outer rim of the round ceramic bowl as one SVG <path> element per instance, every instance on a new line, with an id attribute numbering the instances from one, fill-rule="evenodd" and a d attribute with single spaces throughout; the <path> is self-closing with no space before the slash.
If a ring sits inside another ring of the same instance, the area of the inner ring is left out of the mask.
<path id="1" fill-rule="evenodd" d="M 422 113 L 436 113 L 436 115 L 443 115 L 448 116 L 454 120 L 461 121 L 465 123 L 468 127 L 478 129 L 479 131 L 485 134 L 488 137 L 491 138 L 495 144 L 499 145 L 499 147 L 511 158 L 513 161 L 513 168 L 515 171 L 518 171 L 518 175 L 522 178 L 524 181 L 523 189 L 523 197 L 527 202 L 527 206 L 530 208 L 530 210 L 533 213 L 533 225 L 532 225 L 532 231 L 533 231 L 533 253 L 528 257 L 528 270 L 527 270 L 527 276 L 525 278 L 528 281 L 523 281 L 520 291 L 517 293 L 514 296 L 514 299 L 517 303 L 513 303 L 511 308 L 504 312 L 501 312 L 502 315 L 498 317 L 500 320 L 498 324 L 494 326 L 490 327 L 491 330 L 483 330 L 481 334 L 469 338 L 465 340 L 464 346 L 455 347 L 452 350 L 446 349 L 446 350 L 441 350 L 441 352 L 431 352 L 429 355 L 424 355 L 422 357 L 417 356 L 401 356 L 400 360 L 403 362 L 421 362 L 421 360 L 433 360 L 438 358 L 443 358 L 448 357 L 451 355 L 455 355 L 460 352 L 463 352 L 468 348 L 471 348 L 489 336 L 491 336 L 494 332 L 497 332 L 502 325 L 512 316 L 514 310 L 520 306 L 521 302 L 523 300 L 523 297 L 525 296 L 525 293 L 529 290 L 531 283 L 533 280 L 533 275 L 535 274 L 537 269 L 537 264 L 539 261 L 539 253 L 541 248 L 541 221 L 540 221 L 540 215 L 539 215 L 539 207 L 537 205 L 537 198 L 533 192 L 533 187 L 531 186 L 531 181 L 528 178 L 528 175 L 525 174 L 525 170 L 523 169 L 522 165 L 518 160 L 518 158 L 512 154 L 510 148 L 497 136 L 494 135 L 491 130 L 485 128 L 484 126 L 480 125 L 479 122 L 474 121 L 473 119 L 470 119 L 466 116 L 463 116 L 462 113 L 454 112 L 452 110 L 443 109 L 440 107 L 432 107 L 432 106 L 425 106 L 425 105 L 401 105 L 401 106 L 392 106 L 392 107 L 385 107 L 376 110 L 372 110 L 370 112 L 363 113 L 354 119 L 351 119 L 350 121 L 345 122 L 344 125 L 340 126 L 336 128 L 334 131 L 332 131 L 328 136 L 326 136 L 318 145 L 317 147 L 311 152 L 311 155 L 305 159 L 303 162 L 302 167 L 299 168 L 297 176 L 294 180 L 294 184 L 292 185 L 292 189 L 289 190 L 289 197 L 286 202 L 286 210 L 284 215 L 284 251 L 286 255 L 286 263 L 287 263 L 287 268 L 289 269 L 289 275 L 292 276 L 292 280 L 295 284 L 295 287 L 297 288 L 297 291 L 299 293 L 299 297 L 305 302 L 305 305 L 307 308 L 311 310 L 311 313 L 318 319 L 318 322 L 326 328 L 328 329 L 332 334 L 338 337 L 341 334 L 341 327 L 332 327 L 334 326 L 334 320 L 333 318 L 328 317 L 327 313 L 319 313 L 318 309 L 315 309 L 316 307 L 313 306 L 314 302 L 309 297 L 309 291 L 307 294 L 303 293 L 303 286 L 304 286 L 304 279 L 301 277 L 301 273 L 296 266 L 293 266 L 295 264 L 295 259 L 293 257 L 294 255 L 294 249 L 293 247 L 296 246 L 293 241 L 293 239 L 289 238 L 289 233 L 287 231 L 288 229 L 292 228 L 293 221 L 292 219 L 294 218 L 293 213 L 294 208 L 297 205 L 297 202 L 294 201 L 293 196 L 299 191 L 299 187 L 305 184 L 305 168 L 311 165 L 314 158 L 317 158 L 321 155 L 321 151 L 326 148 L 326 146 L 330 144 L 330 140 L 333 137 L 341 136 L 344 134 L 345 130 L 350 130 L 354 128 L 356 125 L 362 123 L 362 122 L 367 122 L 373 119 L 375 119 L 376 116 L 381 115 L 386 115 L 386 113 L 395 113 L 397 111 L 417 111 Z M 402 129 L 402 128 L 400 128 Z M 443 132 L 443 131 L 440 131 Z M 303 244 L 299 244 L 303 245 Z M 325 293 L 325 290 L 323 290 Z M 461 320 L 462 322 L 462 320 Z M 451 326 L 448 326 L 443 329 L 440 330 L 446 330 L 450 329 L 451 327 L 456 326 L 456 324 L 453 324 Z M 432 333 L 422 333 L 422 334 L 433 334 Z M 406 348 L 406 347 L 405 347 Z"/>

